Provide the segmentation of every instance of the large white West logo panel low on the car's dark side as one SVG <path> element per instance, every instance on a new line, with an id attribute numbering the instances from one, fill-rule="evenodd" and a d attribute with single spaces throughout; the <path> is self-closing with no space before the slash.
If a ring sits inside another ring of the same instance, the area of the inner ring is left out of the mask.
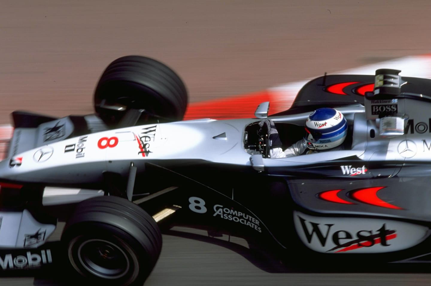
<path id="1" fill-rule="evenodd" d="M 426 226 L 386 218 L 322 217 L 294 211 L 294 225 L 309 249 L 322 253 L 384 253 L 415 246 Z"/>

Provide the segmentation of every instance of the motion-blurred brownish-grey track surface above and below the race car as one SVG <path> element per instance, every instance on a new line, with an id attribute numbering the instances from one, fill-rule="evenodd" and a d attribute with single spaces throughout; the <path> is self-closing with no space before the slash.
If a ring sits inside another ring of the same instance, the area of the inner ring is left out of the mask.
<path id="1" fill-rule="evenodd" d="M 91 113 L 101 72 L 128 54 L 170 65 L 199 102 L 430 53 L 429 9 L 427 0 L 2 0 L 0 123 L 16 109 Z M 336 271 L 269 274 L 224 246 L 165 235 L 146 285 L 431 283 L 428 269 Z M 0 284 L 61 285 L 49 274 Z"/>

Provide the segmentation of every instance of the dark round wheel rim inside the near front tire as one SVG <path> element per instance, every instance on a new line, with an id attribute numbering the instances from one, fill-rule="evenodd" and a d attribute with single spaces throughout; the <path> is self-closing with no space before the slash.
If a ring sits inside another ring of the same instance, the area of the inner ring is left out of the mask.
<path id="1" fill-rule="evenodd" d="M 130 270 L 126 253 L 104 239 L 89 239 L 78 247 L 78 259 L 91 274 L 104 279 L 117 279 Z"/>

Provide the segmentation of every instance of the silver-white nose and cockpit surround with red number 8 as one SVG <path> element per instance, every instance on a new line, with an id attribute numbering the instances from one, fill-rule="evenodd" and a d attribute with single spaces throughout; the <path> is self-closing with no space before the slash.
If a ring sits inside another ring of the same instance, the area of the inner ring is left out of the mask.
<path id="1" fill-rule="evenodd" d="M 346 118 L 350 118 L 350 121 L 353 121 L 354 114 L 364 112 L 361 106 L 339 109 Z M 303 126 L 308 115 L 309 112 L 306 112 L 271 119 L 276 123 Z M 62 138 L 72 133 L 72 124 L 68 118 L 45 123 L 37 128 L 16 128 L 9 156 L 0 162 L 1 178 L 53 184 L 76 183 L 77 180 L 87 183 L 101 180 L 102 171 L 127 174 L 130 162 L 134 162 L 139 168 L 147 160 L 163 159 L 199 159 L 220 164 L 250 166 L 250 155 L 256 154 L 256 151 L 244 147 L 244 130 L 247 125 L 259 121 L 198 119 L 125 127 L 66 140 Z M 45 130 L 63 124 L 65 131 L 62 137 L 43 140 Z M 356 141 L 361 142 L 366 138 L 365 134 L 359 134 L 359 131 L 357 133 Z M 280 164 L 301 165 L 319 158 L 326 160 L 328 156 L 336 159 L 350 154 L 362 155 L 364 149 L 361 148 L 364 147 L 358 143 L 358 148 L 353 150 L 327 152 L 325 156 L 316 154 L 312 157 L 300 156 L 283 160 L 267 159 L 265 165 L 269 167 Z M 44 152 L 47 153 L 42 155 Z M 20 165 L 14 163 L 19 160 Z"/>

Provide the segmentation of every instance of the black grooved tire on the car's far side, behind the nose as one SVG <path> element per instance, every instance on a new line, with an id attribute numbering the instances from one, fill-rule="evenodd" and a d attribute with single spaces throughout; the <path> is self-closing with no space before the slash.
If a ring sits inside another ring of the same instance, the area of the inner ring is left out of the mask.
<path id="1" fill-rule="evenodd" d="M 94 91 L 94 109 L 107 124 L 116 124 L 128 109 L 144 109 L 143 121 L 179 121 L 187 108 L 187 90 L 168 66 L 144 56 L 111 62 Z"/>

